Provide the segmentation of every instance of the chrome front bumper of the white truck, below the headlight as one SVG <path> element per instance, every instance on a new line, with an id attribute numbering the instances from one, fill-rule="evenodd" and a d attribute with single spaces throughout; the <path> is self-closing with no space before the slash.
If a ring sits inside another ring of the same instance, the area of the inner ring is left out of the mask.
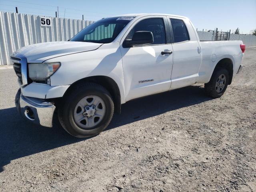
<path id="1" fill-rule="evenodd" d="M 52 127 L 52 118 L 55 110 L 52 102 L 23 96 L 19 89 L 15 97 L 15 104 L 24 119 L 45 127 Z"/>

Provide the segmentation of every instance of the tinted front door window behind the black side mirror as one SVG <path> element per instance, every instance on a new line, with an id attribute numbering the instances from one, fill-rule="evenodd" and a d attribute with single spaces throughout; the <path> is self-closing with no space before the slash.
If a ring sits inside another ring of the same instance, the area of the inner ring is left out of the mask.
<path id="1" fill-rule="evenodd" d="M 137 31 L 151 31 L 154 37 L 152 44 L 166 44 L 164 20 L 162 18 L 149 18 L 138 22 L 129 32 L 126 40 L 132 39 L 133 34 Z"/>

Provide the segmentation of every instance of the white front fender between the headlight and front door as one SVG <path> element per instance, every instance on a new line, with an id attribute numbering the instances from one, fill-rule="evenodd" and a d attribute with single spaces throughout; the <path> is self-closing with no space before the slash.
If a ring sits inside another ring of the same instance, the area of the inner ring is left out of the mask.
<path id="1" fill-rule="evenodd" d="M 122 56 L 119 44 L 104 44 L 97 50 L 65 55 L 47 60 L 61 62 L 61 67 L 51 76 L 51 86 L 71 85 L 91 77 L 112 78 L 120 90 L 121 103 L 125 102 Z"/>

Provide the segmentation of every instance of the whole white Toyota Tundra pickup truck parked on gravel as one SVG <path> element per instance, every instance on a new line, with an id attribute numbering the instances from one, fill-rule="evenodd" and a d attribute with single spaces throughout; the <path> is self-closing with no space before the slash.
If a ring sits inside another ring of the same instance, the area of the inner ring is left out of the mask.
<path id="1" fill-rule="evenodd" d="M 129 14 L 103 18 L 67 42 L 20 48 L 11 55 L 27 120 L 60 124 L 73 136 L 94 136 L 125 102 L 204 83 L 218 98 L 242 69 L 242 41 L 200 42 L 183 16 Z M 54 112 L 57 113 L 54 113 Z"/>

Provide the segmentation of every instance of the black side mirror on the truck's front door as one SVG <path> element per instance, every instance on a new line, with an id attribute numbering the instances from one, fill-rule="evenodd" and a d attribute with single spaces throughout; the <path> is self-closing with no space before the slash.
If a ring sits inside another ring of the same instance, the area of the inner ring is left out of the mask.
<path id="1" fill-rule="evenodd" d="M 133 47 L 134 45 L 148 45 L 154 42 L 154 37 L 151 31 L 137 31 L 132 36 L 132 39 L 125 40 L 123 47 Z"/>

